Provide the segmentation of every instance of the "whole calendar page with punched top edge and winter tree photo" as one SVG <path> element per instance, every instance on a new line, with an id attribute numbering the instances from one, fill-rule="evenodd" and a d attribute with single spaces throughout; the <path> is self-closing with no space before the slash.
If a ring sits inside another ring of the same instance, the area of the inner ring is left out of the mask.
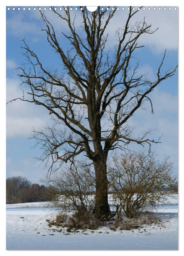
<path id="1" fill-rule="evenodd" d="M 7 250 L 178 249 L 178 12 L 6 7 Z"/>

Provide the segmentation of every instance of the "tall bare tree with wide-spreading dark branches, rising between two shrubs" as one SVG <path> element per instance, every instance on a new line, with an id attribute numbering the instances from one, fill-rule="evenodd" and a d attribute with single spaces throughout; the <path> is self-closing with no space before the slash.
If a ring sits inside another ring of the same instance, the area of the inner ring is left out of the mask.
<path id="1" fill-rule="evenodd" d="M 63 162 L 74 162 L 78 155 L 85 155 L 95 169 L 96 195 L 94 213 L 101 217 L 110 214 L 108 204 L 107 157 L 110 150 L 124 148 L 131 142 L 137 144 L 158 143 L 148 139 L 145 132 L 139 138 L 132 136 L 133 130 L 127 121 L 145 101 L 149 101 L 149 93 L 163 80 L 173 76 L 176 68 L 162 73 L 165 52 L 158 67 L 154 81 L 137 76 L 139 63 L 132 62 L 132 56 L 138 48 L 142 34 L 152 34 L 143 19 L 131 24 L 132 17 L 138 10 L 130 7 L 127 20 L 122 28 L 116 31 L 117 45 L 113 52 L 106 50 L 108 40 L 107 26 L 111 22 L 114 10 L 100 10 L 89 13 L 85 7 L 81 10 L 81 30 L 76 27 L 76 19 L 72 18 L 69 8 L 58 12 L 51 8 L 58 17 L 58 22 L 65 22 L 69 33 L 62 32 L 68 39 L 71 48 L 62 49 L 62 43 L 55 33 L 54 26 L 40 11 L 45 22 L 47 41 L 58 54 L 62 68 L 46 68 L 23 40 L 24 56 L 27 65 L 20 68 L 22 84 L 29 86 L 28 97 L 23 94 L 22 101 L 28 101 L 45 107 L 55 121 L 54 127 L 43 131 L 33 131 L 33 137 L 43 149 L 39 158 L 50 163 L 49 171 L 58 168 Z M 61 26 L 62 28 L 62 26 Z M 134 65 L 134 66 L 133 66 Z M 15 100 L 15 99 L 13 99 Z M 13 101 L 12 100 L 12 101 Z M 153 113 L 153 108 L 152 108 Z M 106 118 L 106 119 L 105 119 Z M 103 129 L 104 120 L 108 126 Z"/>

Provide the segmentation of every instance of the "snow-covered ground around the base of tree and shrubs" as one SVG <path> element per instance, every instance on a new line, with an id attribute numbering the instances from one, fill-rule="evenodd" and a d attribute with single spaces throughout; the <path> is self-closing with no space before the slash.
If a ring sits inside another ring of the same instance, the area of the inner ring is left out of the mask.
<path id="1" fill-rule="evenodd" d="M 159 207 L 161 223 L 132 230 L 76 230 L 48 226 L 55 211 L 44 203 L 7 204 L 8 250 L 177 250 L 178 199 Z"/>

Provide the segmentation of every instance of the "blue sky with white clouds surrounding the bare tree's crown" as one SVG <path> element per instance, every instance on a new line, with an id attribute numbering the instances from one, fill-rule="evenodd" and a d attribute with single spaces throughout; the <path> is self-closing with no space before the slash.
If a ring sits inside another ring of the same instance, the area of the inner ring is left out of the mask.
<path id="1" fill-rule="evenodd" d="M 21 40 L 25 37 L 26 42 L 45 63 L 46 67 L 58 66 L 59 59 L 50 49 L 46 42 L 46 35 L 41 31 L 44 24 L 41 21 L 38 10 L 11 10 L 7 11 L 7 100 L 21 97 L 20 89 L 21 80 L 17 76 L 19 72 L 16 70 L 25 62 L 22 56 Z M 174 68 L 177 65 L 178 50 L 178 10 L 157 10 L 153 7 L 148 10 L 138 12 L 135 20 L 145 20 L 152 24 L 152 28 L 159 28 L 156 33 L 145 35 L 140 44 L 145 45 L 140 48 L 134 55 L 139 59 L 139 74 L 148 73 L 150 78 L 154 79 L 154 74 L 160 65 L 164 50 L 166 50 L 166 59 L 163 70 Z M 52 20 L 56 33 L 61 30 L 67 31 L 64 24 L 60 24 L 58 19 L 46 10 L 46 16 Z M 74 13 L 74 12 L 73 12 Z M 107 48 L 113 50 L 115 44 L 115 30 L 117 26 L 121 27 L 126 19 L 126 10 L 116 12 L 112 23 L 108 26 L 109 43 Z M 80 26 L 80 11 L 77 11 L 77 25 Z M 62 41 L 63 47 L 66 49 L 67 44 Z M 162 135 L 161 144 L 153 146 L 153 150 L 158 154 L 158 158 L 163 159 L 164 154 L 170 156 L 170 160 L 174 162 L 174 172 L 178 169 L 178 98 L 177 98 L 177 73 L 171 78 L 159 84 L 159 86 L 150 94 L 153 102 L 154 115 L 151 114 L 150 106 L 146 106 L 147 110 L 139 110 L 137 115 L 130 120 L 130 124 L 134 126 L 136 132 L 144 132 L 149 128 L 154 129 L 153 138 L 157 139 Z M 39 148 L 31 149 L 34 146 L 33 140 L 28 140 L 32 127 L 37 129 L 51 124 L 49 115 L 46 110 L 31 103 L 16 101 L 7 105 L 7 177 L 24 176 L 32 183 L 39 182 L 43 174 L 47 172 L 44 165 L 40 166 L 40 162 L 34 159 L 34 156 L 40 155 Z M 142 148 L 141 148 L 142 150 Z"/>

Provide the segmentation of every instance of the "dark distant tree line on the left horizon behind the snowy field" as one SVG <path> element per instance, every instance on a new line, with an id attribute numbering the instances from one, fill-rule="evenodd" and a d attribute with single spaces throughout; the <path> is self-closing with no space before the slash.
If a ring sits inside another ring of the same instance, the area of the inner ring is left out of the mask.
<path id="1" fill-rule="evenodd" d="M 48 188 L 44 185 L 31 184 L 22 176 L 6 179 L 6 203 L 29 203 L 52 200 Z"/>

